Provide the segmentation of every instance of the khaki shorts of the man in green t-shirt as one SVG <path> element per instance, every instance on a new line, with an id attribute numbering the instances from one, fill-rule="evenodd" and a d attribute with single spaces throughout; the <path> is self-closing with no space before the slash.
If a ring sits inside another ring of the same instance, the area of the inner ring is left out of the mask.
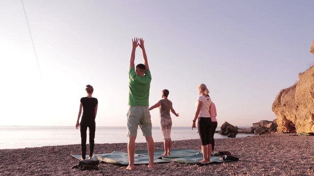
<path id="1" fill-rule="evenodd" d="M 152 121 L 148 107 L 130 106 L 127 117 L 128 136 L 136 136 L 138 126 L 141 128 L 143 136 L 152 135 Z"/>

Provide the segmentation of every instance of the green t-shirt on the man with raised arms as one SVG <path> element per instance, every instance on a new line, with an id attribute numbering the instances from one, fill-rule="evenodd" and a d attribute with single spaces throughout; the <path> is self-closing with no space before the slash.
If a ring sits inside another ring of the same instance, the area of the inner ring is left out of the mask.
<path id="1" fill-rule="evenodd" d="M 149 88 L 151 86 L 152 75 L 146 70 L 144 76 L 135 73 L 135 68 L 129 70 L 129 105 L 149 106 Z"/>

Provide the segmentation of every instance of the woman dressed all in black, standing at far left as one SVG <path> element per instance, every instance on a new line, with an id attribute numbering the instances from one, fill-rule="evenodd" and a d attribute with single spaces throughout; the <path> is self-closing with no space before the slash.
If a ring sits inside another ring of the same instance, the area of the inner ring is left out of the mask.
<path id="1" fill-rule="evenodd" d="M 83 97 L 80 99 L 79 112 L 78 112 L 78 120 L 76 124 L 76 129 L 80 126 L 80 137 L 81 137 L 81 152 L 82 159 L 85 159 L 86 155 L 86 130 L 89 128 L 89 159 L 92 159 L 94 152 L 94 138 L 95 138 L 95 130 L 96 123 L 95 118 L 97 114 L 98 100 L 97 98 L 93 98 L 92 94 L 94 92 L 94 88 L 90 85 L 86 86 L 85 89 L 87 92 L 87 97 Z M 83 115 L 80 123 L 79 117 L 82 112 L 83 107 Z"/>

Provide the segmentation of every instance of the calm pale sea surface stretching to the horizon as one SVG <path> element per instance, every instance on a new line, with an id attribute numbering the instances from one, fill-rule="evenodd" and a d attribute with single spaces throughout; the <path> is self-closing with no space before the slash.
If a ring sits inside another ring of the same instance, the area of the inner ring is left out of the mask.
<path id="1" fill-rule="evenodd" d="M 218 127 L 216 129 L 220 130 Z M 155 142 L 163 141 L 159 127 L 153 127 Z M 236 137 L 255 134 L 238 133 Z M 191 127 L 172 127 L 171 139 L 198 139 L 197 130 Z M 214 138 L 227 138 L 215 133 Z M 128 142 L 126 127 L 96 127 L 95 143 Z M 140 128 L 136 142 L 146 142 Z M 88 134 L 87 134 L 88 143 Z M 19 149 L 26 147 L 42 147 L 55 145 L 80 144 L 80 132 L 75 127 L 40 127 L 40 126 L 0 126 L 0 149 Z"/>

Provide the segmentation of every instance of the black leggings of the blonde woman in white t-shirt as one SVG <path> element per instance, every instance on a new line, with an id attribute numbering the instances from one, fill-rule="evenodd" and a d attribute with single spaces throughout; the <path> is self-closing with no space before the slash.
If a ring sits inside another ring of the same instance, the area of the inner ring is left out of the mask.
<path id="1" fill-rule="evenodd" d="M 202 146 L 212 144 L 212 125 L 210 117 L 199 117 L 197 130 L 200 135 Z"/>

